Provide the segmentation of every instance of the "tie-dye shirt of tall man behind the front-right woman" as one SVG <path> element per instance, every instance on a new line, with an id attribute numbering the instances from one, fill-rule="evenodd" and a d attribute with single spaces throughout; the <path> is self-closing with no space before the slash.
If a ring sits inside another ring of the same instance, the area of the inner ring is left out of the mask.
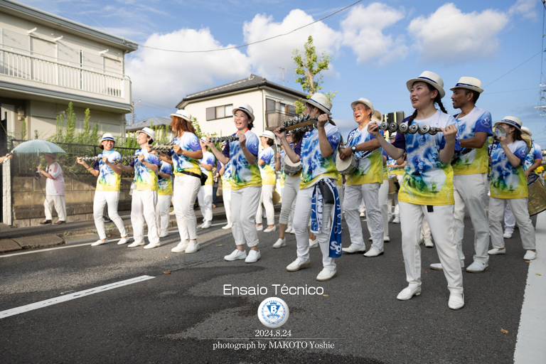
<path id="1" fill-rule="evenodd" d="M 493 135 L 491 113 L 479 107 L 474 107 L 468 115 L 456 119 L 456 123 L 461 139 L 474 138 L 478 132 Z M 481 148 L 471 149 L 469 153 L 461 154 L 451 163 L 455 176 L 487 173 L 488 165 L 487 143 L 483 143 Z"/>

